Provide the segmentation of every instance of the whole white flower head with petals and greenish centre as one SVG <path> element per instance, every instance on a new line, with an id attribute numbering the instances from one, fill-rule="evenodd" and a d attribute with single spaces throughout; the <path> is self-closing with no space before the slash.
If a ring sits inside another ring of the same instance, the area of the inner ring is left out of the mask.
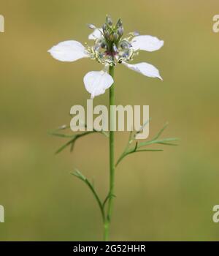
<path id="1" fill-rule="evenodd" d="M 97 29 L 94 25 L 89 25 L 93 33 L 88 39 L 95 40 L 95 44 L 83 46 L 80 42 L 69 40 L 58 43 L 48 52 L 54 59 L 59 61 L 77 61 L 82 58 L 90 58 L 104 64 L 101 71 L 88 72 L 84 77 L 85 89 L 91 94 L 91 99 L 104 94 L 106 89 L 114 83 L 112 77 L 108 74 L 109 65 L 123 64 L 131 70 L 141 73 L 150 78 L 159 78 L 161 75 L 157 68 L 146 62 L 139 64 L 129 64 L 139 50 L 152 52 L 159 50 L 164 41 L 157 37 L 149 35 L 128 34 L 123 38 L 123 24 L 121 20 L 115 26 L 112 26 L 111 20 L 107 19 L 102 29 Z"/>

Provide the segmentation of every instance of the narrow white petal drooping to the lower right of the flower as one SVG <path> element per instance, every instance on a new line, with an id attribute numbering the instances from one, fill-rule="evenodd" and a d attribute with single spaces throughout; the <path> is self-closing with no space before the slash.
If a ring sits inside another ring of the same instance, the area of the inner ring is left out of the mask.
<path id="1" fill-rule="evenodd" d="M 136 72 L 141 73 L 142 75 L 146 75 L 149 78 L 161 78 L 161 75 L 159 74 L 159 71 L 157 68 L 155 68 L 153 65 L 148 64 L 146 62 L 138 63 L 138 64 L 128 64 L 126 62 L 123 62 L 123 64 L 128 67 L 128 69 L 134 70 Z"/>

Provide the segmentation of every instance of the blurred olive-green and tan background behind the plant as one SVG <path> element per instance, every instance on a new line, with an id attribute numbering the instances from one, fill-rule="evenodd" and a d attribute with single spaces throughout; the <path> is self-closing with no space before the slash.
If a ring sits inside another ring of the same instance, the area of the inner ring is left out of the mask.
<path id="1" fill-rule="evenodd" d="M 101 26 L 106 14 L 123 18 L 126 32 L 164 39 L 164 48 L 141 52 L 161 72 L 145 78 L 126 67 L 115 71 L 116 103 L 150 105 L 150 136 L 169 121 L 164 136 L 180 146 L 133 154 L 116 171 L 112 240 L 218 240 L 212 222 L 218 195 L 218 42 L 212 17 L 218 1 L 1 0 L 0 240 L 100 240 L 101 215 L 93 195 L 69 173 L 78 167 L 94 178 L 103 198 L 108 187 L 108 143 L 101 135 L 80 139 L 74 153 L 55 156 L 64 139 L 48 129 L 69 124 L 72 105 L 90 96 L 82 78 L 100 70 L 95 61 L 62 63 L 47 50 L 58 42 L 88 42 L 86 23 Z M 106 94 L 94 105 L 108 102 Z M 116 134 L 116 155 L 127 141 Z"/>

